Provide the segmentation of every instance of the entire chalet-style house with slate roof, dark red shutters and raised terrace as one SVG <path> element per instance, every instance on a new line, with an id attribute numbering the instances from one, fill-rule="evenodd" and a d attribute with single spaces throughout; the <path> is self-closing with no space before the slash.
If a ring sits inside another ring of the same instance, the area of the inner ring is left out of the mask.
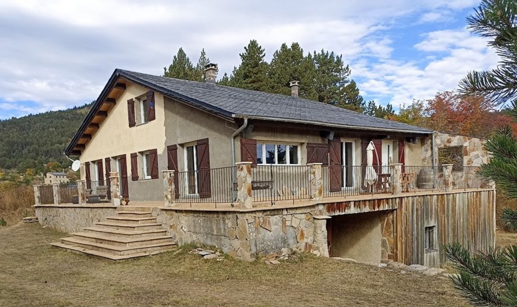
<path id="1" fill-rule="evenodd" d="M 65 150 L 81 161 L 81 204 L 36 200 L 42 223 L 88 230 L 56 246 L 120 258 L 172 238 L 243 260 L 296 247 L 428 266 L 444 244 L 494 246 L 495 188 L 475 173 L 483 140 L 299 98 L 298 82 L 292 96 L 220 86 L 216 70 L 206 82 L 114 71 Z M 98 186 L 113 205 L 82 205 Z M 109 249 L 106 235 L 133 240 L 142 225 L 166 235 Z"/>

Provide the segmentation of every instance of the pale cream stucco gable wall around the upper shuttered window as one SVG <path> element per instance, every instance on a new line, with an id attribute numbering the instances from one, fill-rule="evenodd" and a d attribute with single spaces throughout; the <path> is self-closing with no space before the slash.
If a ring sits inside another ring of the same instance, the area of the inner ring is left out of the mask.
<path id="1" fill-rule="evenodd" d="M 85 179 L 84 162 L 104 159 L 117 155 L 125 154 L 127 158 L 128 189 L 129 198 L 134 201 L 143 200 L 162 200 L 163 183 L 159 179 L 139 179 L 131 180 L 131 161 L 130 154 L 134 152 L 157 149 L 158 169 L 164 170 L 167 166 L 165 151 L 165 112 L 163 95 L 155 92 L 156 119 L 144 124 L 137 124 L 129 127 L 127 101 L 131 98 L 145 94 L 147 88 L 127 84 L 126 90 L 116 100 L 108 112 L 108 117 L 100 123 L 100 128 L 92 139 L 86 144 L 86 148 L 81 153 L 81 179 Z M 138 121 L 137 121 L 138 122 Z M 142 174 L 142 165 L 139 164 L 139 175 Z M 111 169 L 116 170 L 114 161 Z M 94 172 L 92 172 L 93 175 Z M 92 178 L 92 180 L 95 180 Z"/>

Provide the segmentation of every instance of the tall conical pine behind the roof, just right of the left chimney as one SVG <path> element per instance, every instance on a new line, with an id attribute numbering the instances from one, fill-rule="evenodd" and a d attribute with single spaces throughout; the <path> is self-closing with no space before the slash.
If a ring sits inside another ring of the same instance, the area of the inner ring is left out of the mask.
<path id="1" fill-rule="evenodd" d="M 230 86 L 250 90 L 267 91 L 269 80 L 267 77 L 268 64 L 264 61 L 264 49 L 256 40 L 251 40 L 240 54 L 241 63 L 234 68 L 230 78 Z"/>

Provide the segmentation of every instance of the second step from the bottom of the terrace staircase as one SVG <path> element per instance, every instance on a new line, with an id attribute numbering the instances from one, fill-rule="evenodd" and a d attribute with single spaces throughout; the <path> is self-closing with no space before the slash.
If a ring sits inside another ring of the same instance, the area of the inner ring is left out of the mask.
<path id="1" fill-rule="evenodd" d="M 157 244 L 149 244 L 143 246 L 129 247 L 129 246 L 115 246 L 110 244 L 102 244 L 96 242 L 90 242 L 84 239 L 79 239 L 75 237 L 67 237 L 61 238 L 61 242 L 68 245 L 76 245 L 87 249 L 93 249 L 105 253 L 111 253 L 114 255 L 130 255 L 136 253 L 149 253 L 159 250 L 172 249 L 176 246 L 175 243 L 157 243 Z"/>

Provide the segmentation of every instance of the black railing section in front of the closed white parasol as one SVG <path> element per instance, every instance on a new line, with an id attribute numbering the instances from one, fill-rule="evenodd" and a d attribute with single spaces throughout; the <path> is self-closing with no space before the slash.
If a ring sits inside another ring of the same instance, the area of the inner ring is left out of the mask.
<path id="1" fill-rule="evenodd" d="M 388 166 L 324 166 L 323 197 L 391 193 L 392 173 Z"/>

